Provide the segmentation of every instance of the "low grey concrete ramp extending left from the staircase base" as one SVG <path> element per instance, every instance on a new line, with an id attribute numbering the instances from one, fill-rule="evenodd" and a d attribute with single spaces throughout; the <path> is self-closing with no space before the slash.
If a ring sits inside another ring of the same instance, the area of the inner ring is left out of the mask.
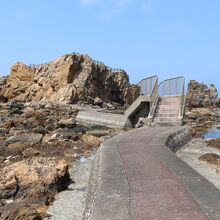
<path id="1" fill-rule="evenodd" d="M 81 111 L 76 117 L 80 124 L 103 125 L 111 128 L 131 127 L 131 123 L 125 115 L 96 111 Z"/>

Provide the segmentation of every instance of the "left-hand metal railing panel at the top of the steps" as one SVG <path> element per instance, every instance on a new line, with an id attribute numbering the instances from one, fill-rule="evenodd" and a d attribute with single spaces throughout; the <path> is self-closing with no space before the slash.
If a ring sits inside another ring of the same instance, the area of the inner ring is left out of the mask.
<path id="1" fill-rule="evenodd" d="M 145 96 L 150 96 L 157 81 L 157 76 L 151 76 L 145 79 L 142 79 L 138 86 L 140 86 L 140 94 Z"/>

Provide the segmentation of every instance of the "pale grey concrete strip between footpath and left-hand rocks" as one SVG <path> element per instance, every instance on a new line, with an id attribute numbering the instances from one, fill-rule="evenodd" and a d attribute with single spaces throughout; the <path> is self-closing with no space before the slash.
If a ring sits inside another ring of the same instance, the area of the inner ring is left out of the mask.
<path id="1" fill-rule="evenodd" d="M 83 218 L 92 161 L 93 157 L 81 158 L 70 169 L 70 176 L 75 183 L 56 196 L 45 220 L 81 220 Z"/>

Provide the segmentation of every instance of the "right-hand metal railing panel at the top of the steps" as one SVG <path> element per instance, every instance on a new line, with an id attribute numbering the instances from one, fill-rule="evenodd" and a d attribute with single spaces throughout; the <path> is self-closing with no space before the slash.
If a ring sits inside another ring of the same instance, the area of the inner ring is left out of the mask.
<path id="1" fill-rule="evenodd" d="M 159 96 L 181 96 L 183 84 L 185 84 L 183 76 L 164 80 L 158 88 Z"/>

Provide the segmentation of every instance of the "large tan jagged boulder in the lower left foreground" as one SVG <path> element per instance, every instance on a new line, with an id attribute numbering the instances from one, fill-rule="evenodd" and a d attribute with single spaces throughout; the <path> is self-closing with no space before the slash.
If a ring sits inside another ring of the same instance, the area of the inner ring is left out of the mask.
<path id="1" fill-rule="evenodd" d="M 65 189 L 68 181 L 68 165 L 64 160 L 37 157 L 19 161 L 1 169 L 0 199 L 21 195 L 23 199 L 37 199 L 49 187 L 56 191 Z"/>

